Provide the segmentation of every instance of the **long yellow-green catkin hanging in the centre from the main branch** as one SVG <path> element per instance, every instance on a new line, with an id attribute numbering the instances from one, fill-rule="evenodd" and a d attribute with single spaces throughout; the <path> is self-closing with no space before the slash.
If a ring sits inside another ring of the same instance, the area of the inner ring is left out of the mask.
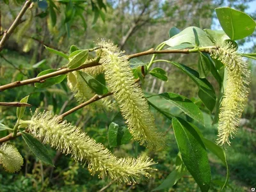
<path id="1" fill-rule="evenodd" d="M 150 113 L 147 100 L 129 66 L 127 56 L 118 51 L 112 42 L 100 42 L 100 63 L 105 70 L 108 87 L 117 101 L 126 120 L 129 131 L 135 140 L 148 148 L 163 148 L 166 139 L 157 132 L 154 116 Z"/>

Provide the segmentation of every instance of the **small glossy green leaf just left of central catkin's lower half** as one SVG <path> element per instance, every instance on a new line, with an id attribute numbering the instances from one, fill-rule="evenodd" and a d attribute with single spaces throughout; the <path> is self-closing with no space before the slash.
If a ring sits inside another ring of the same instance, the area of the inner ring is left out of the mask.
<path id="1" fill-rule="evenodd" d="M 132 135 L 125 125 L 124 118 L 121 113 L 117 113 L 113 121 L 108 127 L 108 143 L 109 147 L 116 147 L 129 143 Z"/>

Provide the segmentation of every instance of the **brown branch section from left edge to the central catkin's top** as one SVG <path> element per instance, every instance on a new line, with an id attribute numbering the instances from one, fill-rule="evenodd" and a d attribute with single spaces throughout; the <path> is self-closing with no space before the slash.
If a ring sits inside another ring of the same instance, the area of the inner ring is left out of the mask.
<path id="1" fill-rule="evenodd" d="M 61 68 L 60 70 L 57 70 L 56 72 L 52 72 L 52 73 L 46 74 L 44 76 L 35 77 L 35 78 L 32 78 L 32 79 L 26 79 L 26 80 L 23 80 L 23 81 L 15 81 L 15 82 L 9 83 L 9 84 L 4 84 L 4 85 L 0 86 L 0 92 L 3 92 L 4 90 L 8 90 L 10 88 L 23 86 L 23 85 L 26 85 L 26 84 L 44 83 L 45 79 L 49 79 L 51 77 L 56 77 L 56 76 L 60 76 L 60 75 L 63 75 L 63 74 L 67 74 L 67 73 L 72 72 L 74 70 L 79 70 L 79 69 L 88 68 L 88 67 L 94 67 L 94 66 L 97 66 L 97 65 L 100 65 L 99 61 L 92 61 L 90 63 L 86 63 L 84 65 L 81 65 L 80 67 L 77 67 L 77 68 Z"/>

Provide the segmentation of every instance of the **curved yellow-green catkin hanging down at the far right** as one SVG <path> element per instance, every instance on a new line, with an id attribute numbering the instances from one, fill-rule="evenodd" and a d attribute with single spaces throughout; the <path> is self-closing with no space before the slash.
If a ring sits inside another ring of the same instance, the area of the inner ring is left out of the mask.
<path id="1" fill-rule="evenodd" d="M 230 139 L 236 134 L 239 120 L 246 105 L 250 71 L 247 62 L 239 55 L 232 44 L 211 49 L 211 56 L 220 60 L 227 69 L 227 83 L 221 101 L 217 143 L 230 145 Z"/>

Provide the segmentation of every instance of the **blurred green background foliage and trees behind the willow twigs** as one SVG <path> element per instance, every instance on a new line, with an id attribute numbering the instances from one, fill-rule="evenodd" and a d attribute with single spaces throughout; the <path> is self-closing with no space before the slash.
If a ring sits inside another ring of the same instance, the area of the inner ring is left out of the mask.
<path id="1" fill-rule="evenodd" d="M 8 29 L 24 4 L 23 0 L 0 1 L 0 36 Z M 65 61 L 60 56 L 48 52 L 44 45 L 68 52 L 70 45 L 77 45 L 80 49 L 92 48 L 97 39 L 104 38 L 118 44 L 121 50 L 127 54 L 145 51 L 156 47 L 164 40 L 168 40 L 168 31 L 172 27 L 184 29 L 188 26 L 200 28 L 218 28 L 214 19 L 214 8 L 228 5 L 247 12 L 252 6 L 248 0 L 233 1 L 201 1 L 201 0 L 43 0 L 35 1 L 24 17 L 22 23 L 15 30 L 4 50 L 0 52 L 0 84 L 10 83 L 22 79 L 35 77 L 39 72 L 47 68 L 60 68 Z M 254 4 L 255 5 L 255 4 Z M 255 12 L 250 12 L 255 19 Z M 247 42 L 246 42 L 247 41 Z M 249 43 L 248 43 L 249 42 Z M 246 38 L 239 42 L 243 49 L 256 51 L 252 38 Z M 246 47 L 245 47 L 246 46 Z M 198 58 L 192 56 L 172 54 L 161 56 L 167 60 L 179 61 L 196 68 Z M 140 58 L 149 61 L 150 56 Z M 256 186 L 256 66 L 252 61 L 251 93 L 248 105 L 245 108 L 236 138 L 232 146 L 227 147 L 227 160 L 230 166 L 230 182 L 226 191 L 248 191 Z M 163 63 L 154 64 L 168 72 L 168 81 L 159 81 L 150 76 L 145 79 L 143 90 L 145 93 L 175 92 L 185 95 L 193 100 L 198 92 L 195 84 L 174 67 Z M 209 77 L 214 87 L 218 87 L 216 81 Z M 77 105 L 72 93 L 67 87 L 67 82 L 56 84 L 50 88 L 35 88 L 33 85 L 22 86 L 0 93 L 0 100 L 4 102 L 19 101 L 22 97 L 30 95 L 29 104 L 35 108 L 51 110 L 60 114 Z M 180 111 L 174 106 L 166 106 L 172 113 L 179 115 Z M 198 102 L 200 105 L 200 102 Z M 52 159 L 55 167 L 45 166 L 35 159 L 21 138 L 11 141 L 19 148 L 24 157 L 24 166 L 19 173 L 10 174 L 0 167 L 0 191 L 150 191 L 156 188 L 175 168 L 175 158 L 178 153 L 175 138 L 173 136 L 170 121 L 154 111 L 157 127 L 168 134 L 172 145 L 161 152 L 150 152 L 138 143 L 132 141 L 129 144 L 110 148 L 118 157 L 133 156 L 146 153 L 158 162 L 158 172 L 152 173 L 148 180 L 141 180 L 140 184 L 125 186 L 122 184 L 109 184 L 108 180 L 100 180 L 90 175 L 86 168 L 74 162 L 69 156 L 63 156 L 60 152 L 52 150 Z M 32 112 L 33 113 L 33 112 Z M 67 116 L 69 122 L 81 127 L 98 142 L 109 147 L 108 125 L 118 109 L 111 111 L 97 111 L 90 106 L 80 109 L 76 113 Z M 26 109 L 29 119 L 31 113 Z M 205 138 L 216 140 L 217 127 L 212 126 L 213 116 L 204 113 L 205 127 L 198 125 Z M 188 117 L 184 116 L 184 118 Z M 0 107 L 0 122 L 9 127 L 15 124 L 15 108 Z M 195 123 L 196 124 L 196 123 Z M 1 131 L 0 136 L 5 136 L 8 131 Z M 225 166 L 211 153 L 209 161 L 212 168 L 212 191 L 220 191 L 220 181 L 225 180 Z M 188 175 L 183 177 L 172 189 L 166 191 L 199 191 L 195 180 Z"/>

